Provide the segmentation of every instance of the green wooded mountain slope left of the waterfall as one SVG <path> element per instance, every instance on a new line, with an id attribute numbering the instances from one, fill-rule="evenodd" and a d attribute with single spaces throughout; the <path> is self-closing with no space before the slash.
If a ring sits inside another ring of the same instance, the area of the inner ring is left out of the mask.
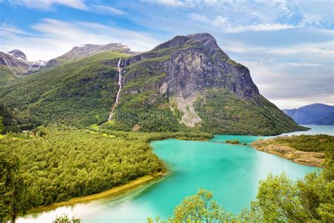
<path id="1" fill-rule="evenodd" d="M 113 106 L 117 61 L 124 56 L 104 52 L 17 78 L 0 86 L 0 103 L 40 123 L 102 123 Z"/>

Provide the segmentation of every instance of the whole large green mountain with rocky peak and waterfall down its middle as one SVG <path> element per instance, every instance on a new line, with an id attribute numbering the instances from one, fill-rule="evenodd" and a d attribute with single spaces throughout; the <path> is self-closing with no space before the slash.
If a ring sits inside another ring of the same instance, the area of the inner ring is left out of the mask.
<path id="1" fill-rule="evenodd" d="M 260 95 L 248 68 L 206 33 L 177 36 L 142 54 L 116 50 L 45 68 L 0 87 L 0 103 L 41 123 L 105 122 L 125 131 L 306 129 Z"/>

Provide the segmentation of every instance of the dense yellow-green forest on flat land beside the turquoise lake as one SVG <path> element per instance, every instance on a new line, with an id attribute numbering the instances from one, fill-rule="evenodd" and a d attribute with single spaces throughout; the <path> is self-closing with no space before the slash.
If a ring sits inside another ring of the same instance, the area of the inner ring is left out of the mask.
<path id="1" fill-rule="evenodd" d="M 13 156 L 20 159 L 30 205 L 99 193 L 164 171 L 163 163 L 151 152 L 151 140 L 212 137 L 207 133 L 92 130 L 40 127 L 35 135 L 8 133 L 0 138 L 1 162 Z"/>

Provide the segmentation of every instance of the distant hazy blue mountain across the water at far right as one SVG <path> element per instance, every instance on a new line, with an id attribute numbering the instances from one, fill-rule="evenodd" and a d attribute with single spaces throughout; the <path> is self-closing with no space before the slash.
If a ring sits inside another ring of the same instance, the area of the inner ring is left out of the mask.
<path id="1" fill-rule="evenodd" d="M 299 124 L 334 126 L 334 106 L 327 104 L 309 104 L 298 109 L 283 109 Z"/>

